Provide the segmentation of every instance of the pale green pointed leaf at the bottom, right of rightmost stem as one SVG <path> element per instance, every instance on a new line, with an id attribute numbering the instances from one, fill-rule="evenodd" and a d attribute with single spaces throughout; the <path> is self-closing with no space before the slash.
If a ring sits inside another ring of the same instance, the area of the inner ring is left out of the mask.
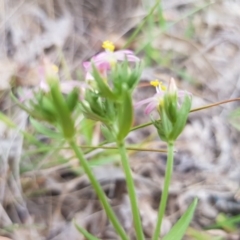
<path id="1" fill-rule="evenodd" d="M 162 240 L 181 240 L 192 220 L 194 211 L 197 207 L 198 199 L 195 198 L 187 211 L 177 221 L 169 233 L 167 233 Z"/>

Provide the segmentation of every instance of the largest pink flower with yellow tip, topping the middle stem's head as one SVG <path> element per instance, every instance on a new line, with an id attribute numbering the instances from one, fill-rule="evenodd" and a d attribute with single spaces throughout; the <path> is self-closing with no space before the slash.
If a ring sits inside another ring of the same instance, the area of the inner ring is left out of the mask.
<path id="1" fill-rule="evenodd" d="M 130 50 L 119 50 L 114 52 L 115 46 L 110 41 L 103 42 L 102 47 L 105 52 L 101 52 L 94 56 L 91 61 L 83 63 L 83 67 L 86 70 L 86 80 L 94 80 L 91 71 L 92 64 L 98 69 L 103 77 L 107 77 L 107 72 L 116 65 L 118 61 L 124 61 L 127 59 L 129 62 L 139 62 L 139 58 L 134 55 Z"/>

